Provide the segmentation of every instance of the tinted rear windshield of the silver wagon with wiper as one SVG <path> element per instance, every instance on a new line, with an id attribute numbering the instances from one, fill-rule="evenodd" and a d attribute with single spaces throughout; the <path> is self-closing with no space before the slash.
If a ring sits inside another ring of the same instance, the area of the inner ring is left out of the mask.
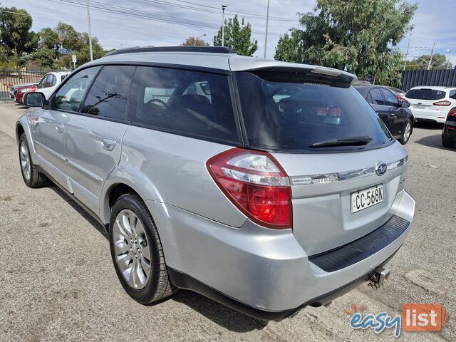
<path id="1" fill-rule="evenodd" d="M 237 73 L 250 147 L 286 152 L 348 151 L 380 147 L 392 140 L 355 88 L 305 82 L 289 73 L 263 72 L 261 78 L 252 72 Z"/>

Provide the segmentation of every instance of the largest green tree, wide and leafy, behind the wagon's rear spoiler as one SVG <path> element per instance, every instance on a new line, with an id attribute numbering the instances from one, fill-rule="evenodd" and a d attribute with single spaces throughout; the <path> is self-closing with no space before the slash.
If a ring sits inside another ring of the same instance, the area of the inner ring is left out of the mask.
<path id="1" fill-rule="evenodd" d="M 314 12 L 301 14 L 296 28 L 299 52 L 287 57 L 397 86 L 403 56 L 396 46 L 412 28 L 417 8 L 405 0 L 317 0 Z M 289 42 L 282 39 L 279 52 L 286 50 L 284 43 Z"/>

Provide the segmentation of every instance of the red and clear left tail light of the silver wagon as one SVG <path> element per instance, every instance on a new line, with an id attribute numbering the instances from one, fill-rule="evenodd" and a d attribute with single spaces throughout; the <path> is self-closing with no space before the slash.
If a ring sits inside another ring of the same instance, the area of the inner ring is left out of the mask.
<path id="1" fill-rule="evenodd" d="M 269 153 L 233 148 L 210 158 L 206 165 L 220 190 L 253 222 L 291 228 L 289 177 Z"/>

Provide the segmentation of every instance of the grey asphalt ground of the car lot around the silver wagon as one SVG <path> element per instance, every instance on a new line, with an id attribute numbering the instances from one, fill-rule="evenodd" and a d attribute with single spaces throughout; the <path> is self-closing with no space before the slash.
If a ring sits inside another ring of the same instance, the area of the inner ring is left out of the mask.
<path id="1" fill-rule="evenodd" d="M 450 318 L 400 341 L 456 341 L 456 150 L 442 147 L 440 125 L 420 125 L 406 145 L 415 222 L 385 287 L 362 284 L 264 326 L 191 291 L 153 306 L 130 299 L 103 228 L 58 187 L 24 185 L 14 138 L 24 110 L 0 103 L 0 341 L 393 341 L 393 329 L 353 330 L 345 310 L 395 316 L 406 303 L 441 304 Z"/>

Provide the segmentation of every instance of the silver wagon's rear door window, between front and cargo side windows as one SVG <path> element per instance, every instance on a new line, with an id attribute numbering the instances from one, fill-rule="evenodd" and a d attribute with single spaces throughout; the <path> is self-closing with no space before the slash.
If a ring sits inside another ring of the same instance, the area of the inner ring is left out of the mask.
<path id="1" fill-rule="evenodd" d="M 125 120 L 134 66 L 104 66 L 91 86 L 82 113 Z"/>

